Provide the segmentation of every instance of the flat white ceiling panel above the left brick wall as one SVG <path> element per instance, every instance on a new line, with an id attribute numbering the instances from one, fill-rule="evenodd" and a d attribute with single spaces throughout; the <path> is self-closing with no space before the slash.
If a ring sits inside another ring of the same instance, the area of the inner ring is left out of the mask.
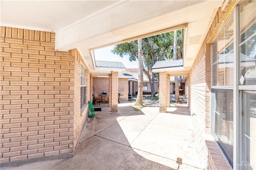
<path id="1" fill-rule="evenodd" d="M 1 0 L 1 25 L 57 31 L 116 2 L 114 0 Z"/>

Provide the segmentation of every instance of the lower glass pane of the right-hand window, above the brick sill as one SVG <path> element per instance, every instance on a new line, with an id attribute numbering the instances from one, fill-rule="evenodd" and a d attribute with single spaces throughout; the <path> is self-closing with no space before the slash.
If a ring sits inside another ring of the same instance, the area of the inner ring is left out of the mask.
<path id="1" fill-rule="evenodd" d="M 212 89 L 214 133 L 222 151 L 233 163 L 233 90 Z"/>

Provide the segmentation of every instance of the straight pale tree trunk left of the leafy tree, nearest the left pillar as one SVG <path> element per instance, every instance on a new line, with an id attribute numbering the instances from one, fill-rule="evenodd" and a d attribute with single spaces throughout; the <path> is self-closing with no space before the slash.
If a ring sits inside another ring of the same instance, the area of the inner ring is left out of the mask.
<path id="1" fill-rule="evenodd" d="M 138 94 L 135 105 L 143 105 L 143 61 L 142 61 L 142 39 L 138 39 Z"/>

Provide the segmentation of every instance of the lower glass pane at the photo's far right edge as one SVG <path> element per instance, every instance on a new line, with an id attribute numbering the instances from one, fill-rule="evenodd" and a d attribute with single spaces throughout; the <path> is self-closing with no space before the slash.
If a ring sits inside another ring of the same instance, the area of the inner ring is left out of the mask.
<path id="1" fill-rule="evenodd" d="M 244 169 L 256 170 L 256 93 L 243 95 L 243 163 Z"/>

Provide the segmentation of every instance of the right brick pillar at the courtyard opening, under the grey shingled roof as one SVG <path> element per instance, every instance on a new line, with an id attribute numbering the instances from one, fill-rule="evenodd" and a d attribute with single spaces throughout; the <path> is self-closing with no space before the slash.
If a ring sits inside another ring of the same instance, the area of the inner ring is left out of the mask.
<path id="1" fill-rule="evenodd" d="M 170 85 L 167 77 L 166 72 L 159 72 L 159 112 L 162 113 L 166 113 L 166 107 L 170 106 Z"/>

